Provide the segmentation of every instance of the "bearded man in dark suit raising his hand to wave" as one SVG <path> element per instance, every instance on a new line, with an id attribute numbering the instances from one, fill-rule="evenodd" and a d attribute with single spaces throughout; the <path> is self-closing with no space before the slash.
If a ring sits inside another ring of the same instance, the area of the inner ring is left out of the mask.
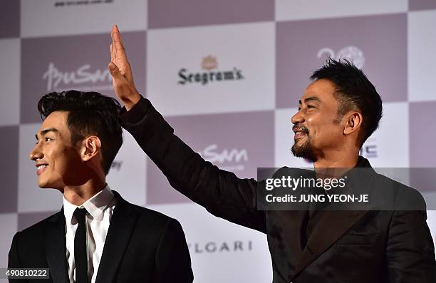
<path id="1" fill-rule="evenodd" d="M 390 205 L 261 210 L 258 185 L 264 183 L 219 170 L 177 138 L 150 101 L 135 91 L 116 26 L 112 37 L 109 69 L 115 93 L 125 105 L 123 127 L 176 190 L 218 217 L 266 233 L 273 282 L 436 282 L 435 250 L 422 196 L 378 175 L 359 156 L 363 142 L 378 128 L 382 101 L 352 63 L 331 60 L 313 73 L 292 117 L 292 151 L 312 160 L 316 175 L 326 173 L 322 168 L 340 172 L 333 172 L 336 177 L 351 175 L 348 186 L 364 188 L 380 201 L 371 205 Z M 303 170 L 282 168 L 276 177 L 296 173 Z"/>

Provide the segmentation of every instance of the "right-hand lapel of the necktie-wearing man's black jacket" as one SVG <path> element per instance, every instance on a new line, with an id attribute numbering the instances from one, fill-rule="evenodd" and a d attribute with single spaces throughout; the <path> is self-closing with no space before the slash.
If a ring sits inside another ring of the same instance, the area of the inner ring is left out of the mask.
<path id="1" fill-rule="evenodd" d="M 108 235 L 106 236 L 95 283 L 113 282 L 137 220 L 130 207 L 130 203 L 123 200 L 118 192 L 113 191 L 113 193 L 118 198 L 118 204 L 115 205 L 115 210 L 110 220 Z"/>

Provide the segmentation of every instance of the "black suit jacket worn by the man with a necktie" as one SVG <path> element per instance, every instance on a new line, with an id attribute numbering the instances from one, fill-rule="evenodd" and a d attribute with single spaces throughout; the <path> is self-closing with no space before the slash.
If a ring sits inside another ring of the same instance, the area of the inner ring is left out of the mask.
<path id="1" fill-rule="evenodd" d="M 95 282 L 192 282 L 190 254 L 180 223 L 160 212 L 132 205 L 113 192 L 118 204 Z M 50 269 L 50 279 L 11 282 L 69 282 L 63 209 L 16 233 L 8 267 Z"/>

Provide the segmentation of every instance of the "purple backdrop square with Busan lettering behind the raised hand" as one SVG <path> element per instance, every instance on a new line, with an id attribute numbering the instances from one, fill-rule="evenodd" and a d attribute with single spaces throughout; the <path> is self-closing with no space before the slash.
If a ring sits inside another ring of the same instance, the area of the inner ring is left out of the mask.
<path id="1" fill-rule="evenodd" d="M 135 74 L 145 91 L 145 32 L 123 34 Z M 41 121 L 36 105 L 52 91 L 97 91 L 115 97 L 108 70 L 108 34 L 26 38 L 21 41 L 21 123 Z M 73 58 L 73 60 L 71 59 Z"/>

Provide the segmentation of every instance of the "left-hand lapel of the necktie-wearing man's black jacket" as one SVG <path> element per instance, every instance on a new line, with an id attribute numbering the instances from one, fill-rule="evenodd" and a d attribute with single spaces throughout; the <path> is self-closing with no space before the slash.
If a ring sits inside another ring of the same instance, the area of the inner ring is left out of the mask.
<path id="1" fill-rule="evenodd" d="M 56 283 L 68 283 L 63 209 L 48 220 L 45 240 L 46 257 L 51 279 Z"/>

